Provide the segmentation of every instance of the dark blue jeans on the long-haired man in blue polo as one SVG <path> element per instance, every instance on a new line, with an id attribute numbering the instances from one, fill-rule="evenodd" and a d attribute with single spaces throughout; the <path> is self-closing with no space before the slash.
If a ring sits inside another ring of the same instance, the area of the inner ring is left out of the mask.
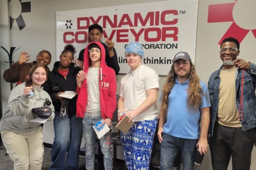
<path id="1" fill-rule="evenodd" d="M 162 133 L 160 168 L 171 170 L 175 156 L 180 149 L 183 170 L 194 170 L 194 157 L 198 139 L 183 139 Z"/>

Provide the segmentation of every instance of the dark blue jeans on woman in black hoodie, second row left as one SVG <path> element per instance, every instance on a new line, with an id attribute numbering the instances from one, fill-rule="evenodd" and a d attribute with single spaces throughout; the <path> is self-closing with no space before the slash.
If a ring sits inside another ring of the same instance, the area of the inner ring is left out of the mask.
<path id="1" fill-rule="evenodd" d="M 55 111 L 53 119 L 54 142 L 52 144 L 52 165 L 50 170 L 78 170 L 79 151 L 83 136 L 82 118 L 61 118 Z M 67 153 L 67 159 L 65 163 Z"/>

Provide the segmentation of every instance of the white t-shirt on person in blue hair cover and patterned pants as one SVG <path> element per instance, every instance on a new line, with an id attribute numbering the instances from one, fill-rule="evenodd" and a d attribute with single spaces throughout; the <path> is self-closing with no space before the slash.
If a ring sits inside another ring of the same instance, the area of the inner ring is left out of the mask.
<path id="1" fill-rule="evenodd" d="M 138 108 L 147 98 L 146 91 L 152 88 L 159 89 L 159 77 L 148 66 L 141 65 L 122 77 L 119 96 L 124 97 L 125 111 L 132 111 Z M 155 118 L 157 118 L 156 103 L 147 111 L 140 113 L 133 121 L 153 120 Z"/>

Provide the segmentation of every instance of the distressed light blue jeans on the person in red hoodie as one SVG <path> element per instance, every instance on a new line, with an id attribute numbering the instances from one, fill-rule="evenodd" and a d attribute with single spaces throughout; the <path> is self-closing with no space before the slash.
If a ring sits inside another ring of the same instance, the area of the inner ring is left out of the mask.
<path id="1" fill-rule="evenodd" d="M 95 160 L 95 149 L 96 149 L 96 133 L 93 129 L 102 116 L 87 116 L 84 115 L 83 119 L 83 133 L 85 139 L 85 160 L 86 169 L 94 170 L 94 160 Z M 101 151 L 103 153 L 104 167 L 105 170 L 112 170 L 113 168 L 113 155 L 111 147 L 111 132 L 109 131 L 104 136 L 99 139 Z"/>

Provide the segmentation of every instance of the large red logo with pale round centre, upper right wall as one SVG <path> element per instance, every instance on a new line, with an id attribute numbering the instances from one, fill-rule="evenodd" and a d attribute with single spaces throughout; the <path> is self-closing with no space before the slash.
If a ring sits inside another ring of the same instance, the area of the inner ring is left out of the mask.
<path id="1" fill-rule="evenodd" d="M 241 8 L 241 6 L 247 6 L 248 8 Z M 256 0 L 235 0 L 234 3 L 209 5 L 207 23 L 232 22 L 218 44 L 221 44 L 222 40 L 227 37 L 234 37 L 241 42 L 249 31 L 252 31 L 256 38 L 255 8 Z M 236 19 L 239 18 L 236 17 L 237 15 L 240 15 L 240 18 L 241 15 L 246 17 L 243 20 Z"/>

